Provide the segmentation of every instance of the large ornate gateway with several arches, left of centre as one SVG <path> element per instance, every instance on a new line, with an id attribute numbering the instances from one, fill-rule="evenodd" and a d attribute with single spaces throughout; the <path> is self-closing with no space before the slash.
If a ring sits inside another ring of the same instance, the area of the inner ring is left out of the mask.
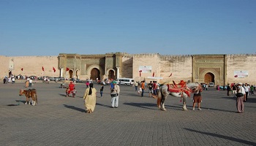
<path id="1" fill-rule="evenodd" d="M 115 76 L 115 72 L 121 74 L 121 53 L 99 55 L 61 53 L 58 58 L 61 71 L 69 69 L 69 72 L 61 72 L 61 77 L 76 77 L 82 80 L 103 80 L 110 77 L 115 80 L 118 77 Z"/>

